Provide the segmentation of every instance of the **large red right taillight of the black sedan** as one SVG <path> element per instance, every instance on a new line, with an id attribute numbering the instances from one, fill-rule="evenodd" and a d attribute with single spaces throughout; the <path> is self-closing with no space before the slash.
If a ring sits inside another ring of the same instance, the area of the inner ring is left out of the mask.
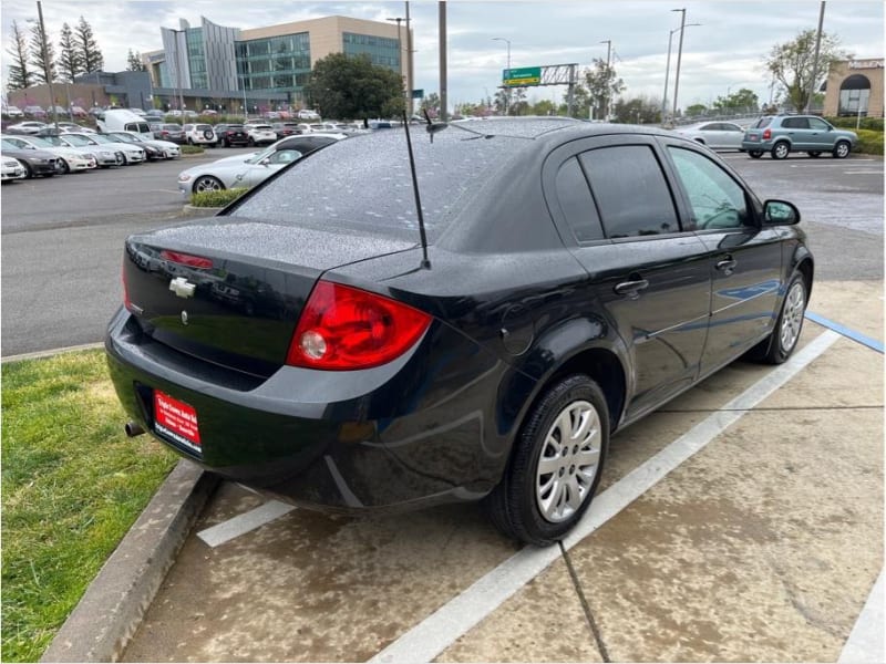
<path id="1" fill-rule="evenodd" d="M 430 315 L 401 302 L 318 281 L 286 363 L 336 371 L 378 366 L 412 347 L 430 324 Z"/>

